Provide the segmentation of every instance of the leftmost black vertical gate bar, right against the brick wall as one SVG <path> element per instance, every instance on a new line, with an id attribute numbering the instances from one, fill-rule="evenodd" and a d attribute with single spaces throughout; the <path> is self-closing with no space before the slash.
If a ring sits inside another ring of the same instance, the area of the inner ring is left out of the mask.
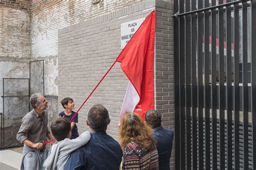
<path id="1" fill-rule="evenodd" d="M 173 14 L 179 10 L 178 1 L 173 2 Z M 174 25 L 174 98 L 175 98 L 175 168 L 180 169 L 180 96 L 179 96 L 179 18 Z"/>

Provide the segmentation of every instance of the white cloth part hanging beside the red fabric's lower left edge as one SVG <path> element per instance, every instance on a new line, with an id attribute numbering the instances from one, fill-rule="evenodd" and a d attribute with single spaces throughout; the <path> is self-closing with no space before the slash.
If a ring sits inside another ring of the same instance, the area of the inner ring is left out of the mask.
<path id="1" fill-rule="evenodd" d="M 127 86 L 126 93 L 124 96 L 124 101 L 121 108 L 121 113 L 119 115 L 119 119 L 121 119 L 125 113 L 133 112 L 134 108 L 138 103 L 139 103 L 139 94 L 137 93 L 136 89 L 132 85 L 131 81 L 129 81 L 129 84 Z"/>

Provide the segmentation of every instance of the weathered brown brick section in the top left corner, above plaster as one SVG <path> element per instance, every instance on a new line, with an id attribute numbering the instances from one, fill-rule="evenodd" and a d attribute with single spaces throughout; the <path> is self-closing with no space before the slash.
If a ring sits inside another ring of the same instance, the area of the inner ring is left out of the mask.
<path id="1" fill-rule="evenodd" d="M 1 57 L 30 57 L 30 3 L 21 1 L 0 5 Z M 3 4 L 4 3 L 4 4 Z"/>

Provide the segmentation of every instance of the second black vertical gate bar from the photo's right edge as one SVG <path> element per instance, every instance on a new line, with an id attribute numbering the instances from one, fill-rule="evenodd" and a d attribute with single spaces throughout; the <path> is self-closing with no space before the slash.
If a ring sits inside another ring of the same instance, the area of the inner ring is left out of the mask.
<path id="1" fill-rule="evenodd" d="M 244 112 L 244 169 L 248 169 L 247 1 L 242 3 L 242 109 Z"/>

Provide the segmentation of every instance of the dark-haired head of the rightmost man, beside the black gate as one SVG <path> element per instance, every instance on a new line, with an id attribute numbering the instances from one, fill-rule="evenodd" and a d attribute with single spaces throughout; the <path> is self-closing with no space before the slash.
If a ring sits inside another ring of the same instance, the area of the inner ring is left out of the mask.
<path id="1" fill-rule="evenodd" d="M 161 114 L 157 110 L 148 110 L 145 114 L 145 121 L 151 125 L 152 128 L 161 126 Z"/>

